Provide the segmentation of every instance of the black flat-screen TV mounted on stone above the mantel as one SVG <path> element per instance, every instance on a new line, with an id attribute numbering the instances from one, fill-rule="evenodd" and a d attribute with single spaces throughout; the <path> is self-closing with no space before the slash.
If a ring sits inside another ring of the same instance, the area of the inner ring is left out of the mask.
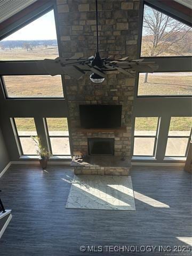
<path id="1" fill-rule="evenodd" d="M 121 127 L 121 105 L 79 105 L 81 127 L 113 129 Z"/>

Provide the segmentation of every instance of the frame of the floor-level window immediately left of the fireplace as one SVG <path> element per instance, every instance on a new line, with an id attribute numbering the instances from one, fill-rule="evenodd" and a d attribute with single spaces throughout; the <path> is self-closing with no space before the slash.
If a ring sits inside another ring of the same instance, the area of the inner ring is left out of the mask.
<path id="1" fill-rule="evenodd" d="M 71 153 L 71 148 L 70 148 L 70 135 L 50 135 L 49 134 L 49 129 L 48 129 L 48 125 L 47 125 L 47 120 L 46 118 L 67 118 L 67 117 L 44 117 L 44 126 L 45 126 L 45 133 L 46 133 L 46 137 L 47 137 L 47 145 L 48 145 L 48 148 L 49 148 L 49 151 L 50 153 L 52 154 L 52 156 L 71 156 L 70 155 L 63 155 L 63 154 L 60 154 L 60 155 L 53 155 L 53 151 L 52 151 L 52 146 L 51 146 L 51 140 L 50 138 L 68 138 L 69 139 L 69 150 L 70 150 L 70 153 Z M 67 118 L 67 121 L 68 121 L 68 118 Z"/>

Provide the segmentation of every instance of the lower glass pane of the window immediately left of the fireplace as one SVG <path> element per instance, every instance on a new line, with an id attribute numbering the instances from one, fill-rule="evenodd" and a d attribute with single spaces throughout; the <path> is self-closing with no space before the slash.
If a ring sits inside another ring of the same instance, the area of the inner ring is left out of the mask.
<path id="1" fill-rule="evenodd" d="M 53 155 L 70 155 L 69 138 L 50 138 Z"/>

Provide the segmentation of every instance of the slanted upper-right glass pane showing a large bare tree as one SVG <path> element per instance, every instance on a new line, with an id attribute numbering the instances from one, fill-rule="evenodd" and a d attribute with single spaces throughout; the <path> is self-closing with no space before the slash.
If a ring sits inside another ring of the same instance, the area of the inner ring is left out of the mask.
<path id="1" fill-rule="evenodd" d="M 145 5 L 141 56 L 191 55 L 191 32 L 189 26 Z"/>

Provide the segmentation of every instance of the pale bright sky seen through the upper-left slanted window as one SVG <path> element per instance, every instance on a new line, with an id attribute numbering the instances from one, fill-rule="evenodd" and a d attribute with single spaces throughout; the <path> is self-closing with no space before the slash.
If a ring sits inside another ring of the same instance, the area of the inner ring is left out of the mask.
<path id="1" fill-rule="evenodd" d="M 53 10 L 4 38 L 3 41 L 46 39 L 57 39 Z"/>

